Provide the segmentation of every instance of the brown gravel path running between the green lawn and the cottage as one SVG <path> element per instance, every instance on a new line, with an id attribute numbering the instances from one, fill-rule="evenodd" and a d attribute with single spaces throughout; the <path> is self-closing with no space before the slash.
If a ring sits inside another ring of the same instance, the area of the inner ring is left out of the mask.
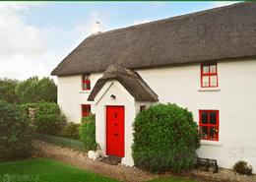
<path id="1" fill-rule="evenodd" d="M 39 156 L 61 160 L 76 165 L 82 169 L 121 181 L 140 182 L 158 177 L 173 176 L 171 173 L 160 175 L 151 174 L 136 167 L 127 167 L 121 164 L 109 165 L 98 160 L 94 161 L 93 159 L 90 159 L 87 152 L 78 152 L 68 148 L 61 148 L 41 141 L 33 141 L 32 144 L 36 150 L 34 157 Z M 202 182 L 256 182 L 256 175 L 240 175 L 234 173 L 232 170 L 222 168 L 218 173 L 207 172 L 204 170 L 191 170 L 179 175 L 197 179 Z"/>

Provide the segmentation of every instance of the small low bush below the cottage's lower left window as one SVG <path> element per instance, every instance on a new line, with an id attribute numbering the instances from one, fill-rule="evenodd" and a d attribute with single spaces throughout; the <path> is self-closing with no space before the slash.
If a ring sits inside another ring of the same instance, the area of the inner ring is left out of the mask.
<path id="1" fill-rule="evenodd" d="M 80 124 L 70 122 L 63 128 L 61 136 L 68 139 L 79 140 L 79 127 Z"/>

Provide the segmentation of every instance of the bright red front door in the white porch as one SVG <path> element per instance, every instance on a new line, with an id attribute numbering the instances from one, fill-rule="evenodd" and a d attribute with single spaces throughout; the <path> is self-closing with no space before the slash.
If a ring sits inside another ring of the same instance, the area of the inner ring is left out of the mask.
<path id="1" fill-rule="evenodd" d="M 106 154 L 124 156 L 124 106 L 106 106 Z"/>

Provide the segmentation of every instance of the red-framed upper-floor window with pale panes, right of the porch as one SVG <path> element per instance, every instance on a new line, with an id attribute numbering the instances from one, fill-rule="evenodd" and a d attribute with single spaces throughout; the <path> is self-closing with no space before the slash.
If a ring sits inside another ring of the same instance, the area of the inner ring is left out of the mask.
<path id="1" fill-rule="evenodd" d="M 201 87 L 202 88 L 218 87 L 217 63 L 201 65 Z"/>

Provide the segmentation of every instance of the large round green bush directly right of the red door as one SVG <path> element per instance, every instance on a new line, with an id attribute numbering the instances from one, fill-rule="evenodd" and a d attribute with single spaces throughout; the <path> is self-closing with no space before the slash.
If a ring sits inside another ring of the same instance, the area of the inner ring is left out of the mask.
<path id="1" fill-rule="evenodd" d="M 152 172 L 179 171 L 194 165 L 200 147 L 192 113 L 176 104 L 158 104 L 134 122 L 135 165 Z"/>

